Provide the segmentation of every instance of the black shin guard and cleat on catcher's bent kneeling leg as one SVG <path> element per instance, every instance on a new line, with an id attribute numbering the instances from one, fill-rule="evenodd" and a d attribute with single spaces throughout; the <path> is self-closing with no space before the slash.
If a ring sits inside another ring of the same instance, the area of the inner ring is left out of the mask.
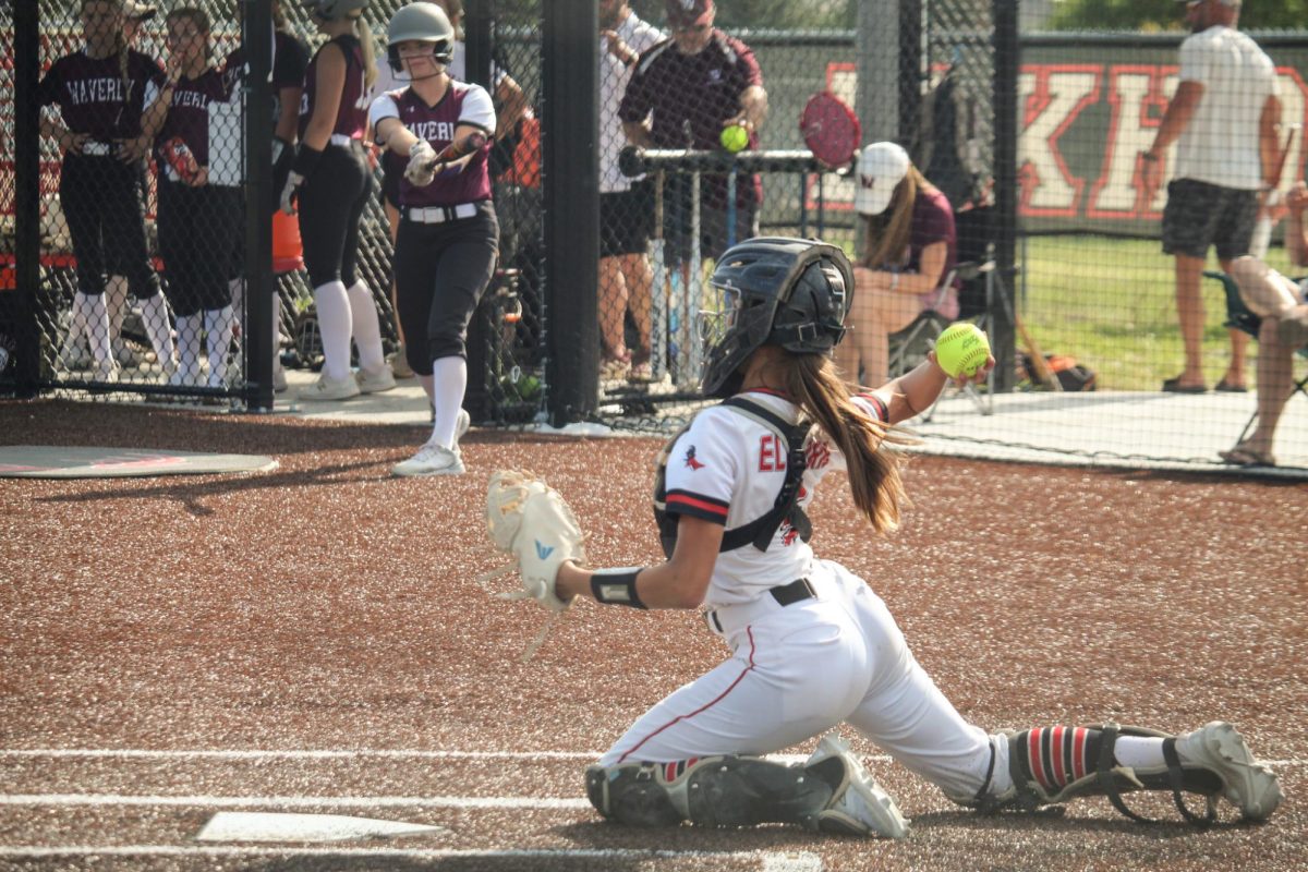
<path id="1" fill-rule="evenodd" d="M 840 753 L 803 766 L 757 757 L 705 757 L 591 766 L 586 795 L 600 814 L 628 826 L 798 824 L 814 831 L 903 837 L 908 822 L 875 782 L 872 792 L 862 787 L 870 780 L 863 775 Z M 850 801 L 855 791 L 861 791 L 858 803 Z M 883 822 L 887 816 L 891 824 Z"/>

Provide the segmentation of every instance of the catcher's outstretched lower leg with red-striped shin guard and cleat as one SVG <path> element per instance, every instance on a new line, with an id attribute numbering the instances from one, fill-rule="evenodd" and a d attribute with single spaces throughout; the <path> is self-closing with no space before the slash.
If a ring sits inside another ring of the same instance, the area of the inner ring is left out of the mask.
<path id="1" fill-rule="evenodd" d="M 1076 736 L 1082 731 L 1086 737 Z M 1230 724 L 1209 724 L 1180 737 L 1117 724 L 1010 731 L 1005 736 L 1008 740 L 1008 770 L 1014 786 L 999 796 L 981 800 L 980 807 L 985 812 L 1005 808 L 1033 811 L 1078 796 L 1107 796 L 1113 808 L 1126 817 L 1142 824 L 1155 824 L 1158 821 L 1130 811 L 1122 801 L 1122 794 L 1171 790 L 1185 820 L 1196 826 L 1209 826 L 1216 821 L 1216 800 L 1223 792 L 1240 807 L 1245 817 L 1254 820 L 1270 814 L 1281 801 L 1275 775 L 1253 760 L 1243 739 Z M 1154 769 L 1118 765 L 1113 753 L 1118 736 L 1162 739 L 1165 763 Z M 1093 761 L 1083 761 L 1075 753 L 1076 741 L 1087 740 L 1099 744 Z M 1192 812 L 1181 797 L 1182 792 L 1203 796 L 1206 812 Z"/>

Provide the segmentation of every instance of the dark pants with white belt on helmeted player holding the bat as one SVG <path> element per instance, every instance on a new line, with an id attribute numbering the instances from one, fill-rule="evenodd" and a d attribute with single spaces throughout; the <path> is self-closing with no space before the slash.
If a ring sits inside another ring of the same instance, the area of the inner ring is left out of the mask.
<path id="1" fill-rule="evenodd" d="M 409 221 L 404 209 L 400 216 L 395 305 L 408 365 L 430 375 L 432 361 L 467 357 L 468 323 L 500 258 L 500 221 L 489 200 L 471 218 L 443 224 Z"/>

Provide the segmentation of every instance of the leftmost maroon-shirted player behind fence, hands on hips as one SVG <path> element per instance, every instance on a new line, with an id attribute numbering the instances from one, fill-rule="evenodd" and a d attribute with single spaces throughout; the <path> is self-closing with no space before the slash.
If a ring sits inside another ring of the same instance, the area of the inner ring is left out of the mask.
<path id="1" fill-rule="evenodd" d="M 123 9 L 123 0 L 82 0 L 85 46 L 56 60 L 38 93 L 42 106 L 59 106 L 58 118 L 42 115 L 41 132 L 63 152 L 59 203 L 77 259 L 72 318 L 86 336 L 99 382 L 118 380 L 105 301 L 111 267 L 122 269 L 141 303 L 161 369 L 166 375 L 174 370 L 171 323 L 150 264 L 140 196 L 141 159 L 152 136 L 141 119 L 164 71 L 127 46 Z"/>

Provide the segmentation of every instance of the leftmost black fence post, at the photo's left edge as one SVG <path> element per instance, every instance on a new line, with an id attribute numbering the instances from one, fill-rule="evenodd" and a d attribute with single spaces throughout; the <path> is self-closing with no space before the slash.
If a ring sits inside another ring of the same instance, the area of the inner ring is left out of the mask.
<path id="1" fill-rule="evenodd" d="M 14 384 L 20 397 L 37 396 L 41 380 L 41 5 L 13 7 L 14 146 Z"/>

